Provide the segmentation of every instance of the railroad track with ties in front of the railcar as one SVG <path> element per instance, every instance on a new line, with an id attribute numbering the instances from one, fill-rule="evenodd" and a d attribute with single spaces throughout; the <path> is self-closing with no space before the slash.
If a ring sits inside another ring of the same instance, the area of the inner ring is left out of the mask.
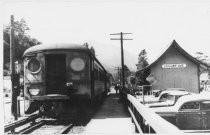
<path id="1" fill-rule="evenodd" d="M 72 117 L 47 119 L 36 114 L 6 125 L 4 131 L 5 134 L 67 134 L 74 125 L 75 119 Z"/>

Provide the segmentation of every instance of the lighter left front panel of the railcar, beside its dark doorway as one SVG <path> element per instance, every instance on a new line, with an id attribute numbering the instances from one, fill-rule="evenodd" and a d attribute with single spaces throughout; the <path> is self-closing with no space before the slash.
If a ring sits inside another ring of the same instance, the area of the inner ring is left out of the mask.
<path id="1" fill-rule="evenodd" d="M 39 72 L 31 72 L 30 70 L 36 70 L 33 69 L 31 65 L 31 61 L 38 60 L 40 62 L 40 68 L 37 66 L 37 70 L 40 70 Z M 24 59 L 24 110 L 26 114 L 32 113 L 36 111 L 39 107 L 39 104 L 35 103 L 32 100 L 32 94 L 29 92 L 31 89 L 39 89 L 40 92 L 38 95 L 44 95 L 45 94 L 45 60 L 44 55 L 42 53 L 34 54 L 30 57 L 27 57 Z"/>

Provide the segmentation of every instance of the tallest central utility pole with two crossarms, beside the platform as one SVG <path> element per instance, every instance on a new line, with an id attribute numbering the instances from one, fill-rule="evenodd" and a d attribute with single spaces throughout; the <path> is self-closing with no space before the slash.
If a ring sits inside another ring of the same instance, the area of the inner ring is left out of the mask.
<path id="1" fill-rule="evenodd" d="M 133 39 L 124 39 L 123 35 L 132 34 L 132 33 L 114 33 L 110 35 L 120 35 L 120 38 L 111 38 L 111 40 L 120 40 L 121 42 L 121 64 L 122 64 L 122 87 L 125 89 L 125 75 L 124 75 L 124 52 L 123 52 L 123 40 L 133 40 Z"/>

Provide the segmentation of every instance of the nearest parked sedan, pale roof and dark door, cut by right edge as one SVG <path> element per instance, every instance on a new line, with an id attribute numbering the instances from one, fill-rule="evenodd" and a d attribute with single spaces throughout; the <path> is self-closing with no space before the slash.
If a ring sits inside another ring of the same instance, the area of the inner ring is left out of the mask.
<path id="1" fill-rule="evenodd" d="M 182 96 L 174 106 L 151 109 L 181 130 L 210 130 L 210 94 Z"/>

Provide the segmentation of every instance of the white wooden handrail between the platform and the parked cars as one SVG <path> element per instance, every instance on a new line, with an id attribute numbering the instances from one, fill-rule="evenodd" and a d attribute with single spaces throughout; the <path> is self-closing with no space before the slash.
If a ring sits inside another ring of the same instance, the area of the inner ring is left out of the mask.
<path id="1" fill-rule="evenodd" d="M 139 115 L 142 116 L 144 123 L 146 125 L 148 124 L 149 128 L 151 127 L 156 133 L 158 134 L 169 134 L 169 133 L 183 134 L 184 133 L 183 131 L 178 129 L 176 126 L 169 123 L 168 121 L 160 117 L 158 114 L 151 111 L 149 108 L 145 107 L 132 95 L 127 94 L 127 99 L 132 105 L 131 108 L 135 108 L 137 113 L 139 113 Z M 135 112 L 133 113 L 135 115 Z M 142 125 L 141 123 L 139 124 Z"/>

